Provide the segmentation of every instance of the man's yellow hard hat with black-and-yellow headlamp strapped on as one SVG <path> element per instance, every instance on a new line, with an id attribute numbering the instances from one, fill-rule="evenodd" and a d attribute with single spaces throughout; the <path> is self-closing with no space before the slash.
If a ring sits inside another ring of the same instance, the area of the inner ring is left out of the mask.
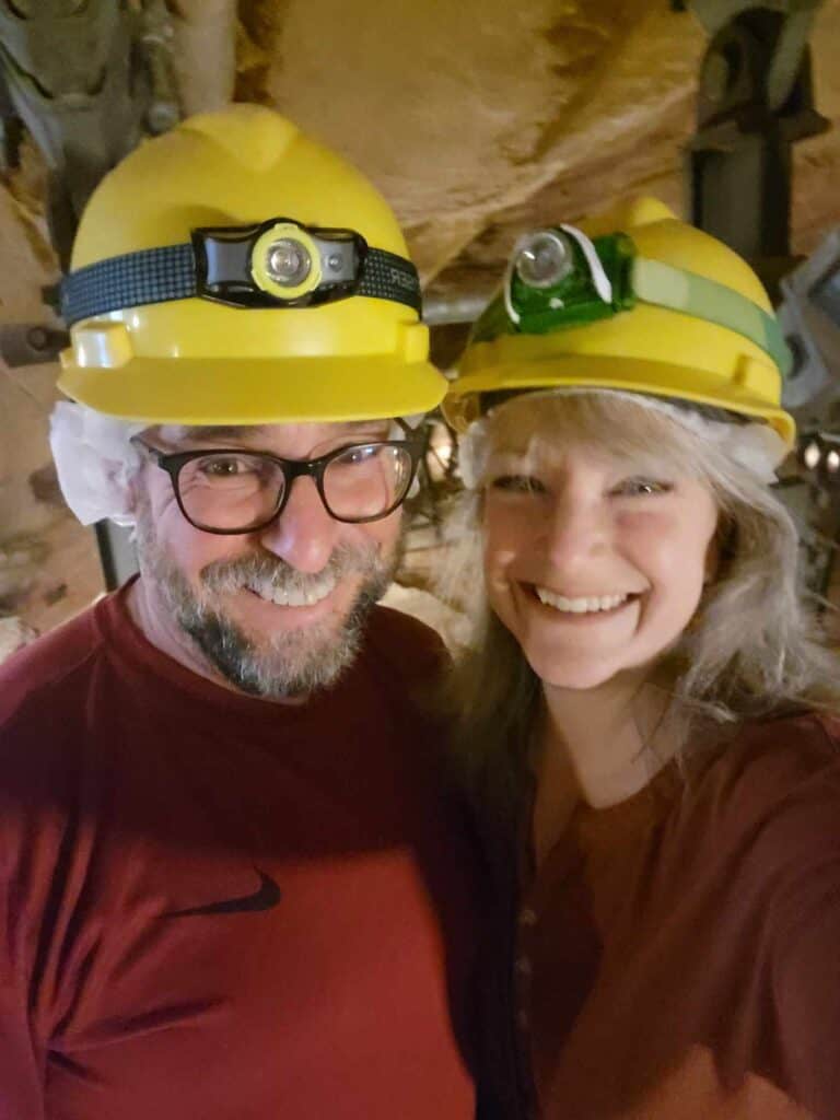
<path id="1" fill-rule="evenodd" d="M 192 118 L 103 179 L 62 302 L 60 389 L 124 419 L 373 419 L 446 391 L 391 209 L 256 105 Z"/>

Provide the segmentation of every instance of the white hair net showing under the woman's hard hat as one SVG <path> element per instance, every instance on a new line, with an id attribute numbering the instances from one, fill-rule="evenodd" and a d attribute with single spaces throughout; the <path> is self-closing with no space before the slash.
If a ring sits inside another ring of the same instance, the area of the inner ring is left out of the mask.
<path id="1" fill-rule="evenodd" d="M 735 463 L 740 464 L 756 478 L 768 485 L 776 482 L 776 467 L 790 450 L 778 432 L 769 424 L 759 421 L 737 424 L 710 420 L 692 409 L 682 409 L 662 398 L 648 396 L 643 393 L 626 393 L 616 389 L 560 388 L 530 395 L 573 396 L 589 393 L 609 393 L 610 396 L 632 401 L 634 404 L 651 409 L 653 412 L 664 412 L 683 428 L 717 444 Z M 483 465 L 478 461 L 478 448 L 484 430 L 485 420 L 477 420 L 461 439 L 458 463 L 464 485 L 468 489 L 474 489 L 480 479 Z"/>

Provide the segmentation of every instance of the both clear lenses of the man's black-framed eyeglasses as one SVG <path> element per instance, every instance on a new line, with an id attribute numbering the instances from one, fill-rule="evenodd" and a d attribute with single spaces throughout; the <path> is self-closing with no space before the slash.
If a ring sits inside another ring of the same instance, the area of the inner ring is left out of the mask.
<path id="1" fill-rule="evenodd" d="M 412 457 L 403 447 L 365 444 L 330 459 L 321 476 L 327 511 L 339 521 L 390 513 L 411 484 Z M 205 529 L 246 531 L 270 521 L 286 494 L 279 463 L 246 452 L 214 451 L 187 461 L 178 476 L 184 512 Z"/>

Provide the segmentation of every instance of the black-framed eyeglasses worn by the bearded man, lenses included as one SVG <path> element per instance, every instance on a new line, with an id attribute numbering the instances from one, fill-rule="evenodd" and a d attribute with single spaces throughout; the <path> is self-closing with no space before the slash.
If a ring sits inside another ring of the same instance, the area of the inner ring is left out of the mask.
<path id="1" fill-rule="evenodd" d="M 317 459 L 281 459 L 242 448 L 177 451 L 139 444 L 169 475 L 180 512 L 206 533 L 253 533 L 283 512 L 296 478 L 315 480 L 336 521 L 379 521 L 404 501 L 422 454 L 422 439 L 351 444 Z"/>

